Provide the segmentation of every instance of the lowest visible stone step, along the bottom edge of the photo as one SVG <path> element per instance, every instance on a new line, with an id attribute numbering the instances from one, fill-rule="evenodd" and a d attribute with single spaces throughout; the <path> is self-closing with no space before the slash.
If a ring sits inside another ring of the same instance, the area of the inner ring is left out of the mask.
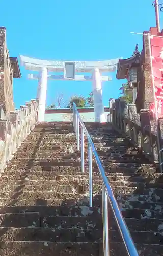
<path id="1" fill-rule="evenodd" d="M 99 256 L 103 255 L 102 243 L 89 242 L 22 242 L 22 241 L 2 241 L 0 242 L 1 254 L 3 256 Z M 141 256 L 162 255 L 163 245 L 157 244 L 135 244 Z M 110 243 L 111 255 L 127 255 L 122 243 Z"/>

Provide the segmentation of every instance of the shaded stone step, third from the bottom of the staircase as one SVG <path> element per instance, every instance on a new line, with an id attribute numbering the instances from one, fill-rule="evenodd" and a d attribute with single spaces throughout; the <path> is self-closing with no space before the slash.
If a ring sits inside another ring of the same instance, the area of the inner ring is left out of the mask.
<path id="1" fill-rule="evenodd" d="M 160 231 L 163 220 L 125 218 L 130 231 Z M 1 227 L 45 227 L 59 229 L 102 229 L 102 216 L 41 216 L 39 212 L 24 212 L 16 214 L 0 214 Z M 114 218 L 110 218 L 110 229 L 117 230 Z"/>

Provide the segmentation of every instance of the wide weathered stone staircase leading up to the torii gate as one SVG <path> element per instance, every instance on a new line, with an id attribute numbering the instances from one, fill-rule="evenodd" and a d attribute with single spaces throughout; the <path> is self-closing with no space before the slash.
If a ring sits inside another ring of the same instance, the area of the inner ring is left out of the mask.
<path id="1" fill-rule="evenodd" d="M 140 255 L 163 255 L 163 183 L 110 124 L 86 123 Z M 85 152 L 87 153 L 87 142 Z M 101 179 L 81 172 L 72 123 L 38 123 L 0 178 L 0 255 L 102 256 Z M 109 211 L 111 255 L 127 255 Z"/>

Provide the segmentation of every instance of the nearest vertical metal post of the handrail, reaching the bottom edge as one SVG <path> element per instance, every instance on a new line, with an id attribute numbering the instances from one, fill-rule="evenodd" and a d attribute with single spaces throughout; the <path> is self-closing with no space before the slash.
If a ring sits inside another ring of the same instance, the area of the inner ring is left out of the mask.
<path id="1" fill-rule="evenodd" d="M 108 235 L 108 198 L 105 187 L 102 183 L 102 222 L 103 222 L 103 255 L 109 256 L 109 235 Z"/>

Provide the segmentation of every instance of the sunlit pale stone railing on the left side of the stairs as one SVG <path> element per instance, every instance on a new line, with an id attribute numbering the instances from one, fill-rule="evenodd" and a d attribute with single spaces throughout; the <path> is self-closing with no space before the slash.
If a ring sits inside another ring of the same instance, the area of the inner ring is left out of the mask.
<path id="1" fill-rule="evenodd" d="M 1 109 L 0 116 L 0 172 L 6 163 L 12 159 L 13 154 L 21 142 L 34 129 L 37 122 L 38 104 L 36 100 L 26 102 L 20 110 L 10 112 L 6 119 Z"/>

